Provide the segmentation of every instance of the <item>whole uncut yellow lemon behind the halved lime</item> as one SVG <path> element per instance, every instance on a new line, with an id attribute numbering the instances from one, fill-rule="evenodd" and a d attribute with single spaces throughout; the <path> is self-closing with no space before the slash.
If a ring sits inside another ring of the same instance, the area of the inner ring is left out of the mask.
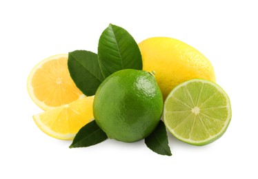
<path id="1" fill-rule="evenodd" d="M 143 70 L 156 72 L 163 99 L 183 81 L 203 78 L 215 82 L 215 72 L 208 59 L 195 48 L 177 39 L 152 37 L 139 43 Z"/>

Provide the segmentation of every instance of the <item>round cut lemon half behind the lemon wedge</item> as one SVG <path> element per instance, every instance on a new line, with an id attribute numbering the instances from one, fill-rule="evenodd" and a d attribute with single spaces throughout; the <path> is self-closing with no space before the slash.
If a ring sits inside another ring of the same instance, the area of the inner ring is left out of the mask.
<path id="1" fill-rule="evenodd" d="M 38 63 L 28 76 L 27 87 L 32 101 L 43 110 L 84 97 L 70 77 L 68 54 L 50 56 Z"/>

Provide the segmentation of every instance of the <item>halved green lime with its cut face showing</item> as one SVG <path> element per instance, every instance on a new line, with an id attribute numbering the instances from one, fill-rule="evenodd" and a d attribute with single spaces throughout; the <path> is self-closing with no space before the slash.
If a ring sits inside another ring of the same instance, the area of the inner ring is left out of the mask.
<path id="1" fill-rule="evenodd" d="M 226 131 L 230 99 L 219 85 L 203 79 L 181 83 L 168 94 L 163 120 L 173 136 L 192 145 L 206 145 Z"/>

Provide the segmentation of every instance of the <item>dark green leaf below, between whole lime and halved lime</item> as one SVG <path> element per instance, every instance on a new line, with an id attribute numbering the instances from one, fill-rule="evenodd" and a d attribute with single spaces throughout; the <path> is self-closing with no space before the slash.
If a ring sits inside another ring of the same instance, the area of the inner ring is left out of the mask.
<path id="1" fill-rule="evenodd" d="M 152 151 L 157 154 L 172 156 L 170 147 L 168 146 L 168 136 L 166 127 L 162 120 L 159 121 L 159 125 L 155 131 L 145 138 L 145 143 Z"/>

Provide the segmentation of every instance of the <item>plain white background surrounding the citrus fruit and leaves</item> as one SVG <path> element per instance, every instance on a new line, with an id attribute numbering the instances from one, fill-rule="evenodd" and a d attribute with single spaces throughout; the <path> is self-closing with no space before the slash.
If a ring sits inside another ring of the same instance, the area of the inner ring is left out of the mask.
<path id="1" fill-rule="evenodd" d="M 258 178 L 256 1 L 1 1 L 0 178 Z M 215 143 L 196 147 L 168 134 L 172 156 L 143 140 L 69 149 L 34 124 L 42 112 L 26 89 L 30 70 L 53 54 L 97 52 L 119 25 L 137 43 L 170 36 L 197 48 L 230 96 L 232 120 Z"/>

